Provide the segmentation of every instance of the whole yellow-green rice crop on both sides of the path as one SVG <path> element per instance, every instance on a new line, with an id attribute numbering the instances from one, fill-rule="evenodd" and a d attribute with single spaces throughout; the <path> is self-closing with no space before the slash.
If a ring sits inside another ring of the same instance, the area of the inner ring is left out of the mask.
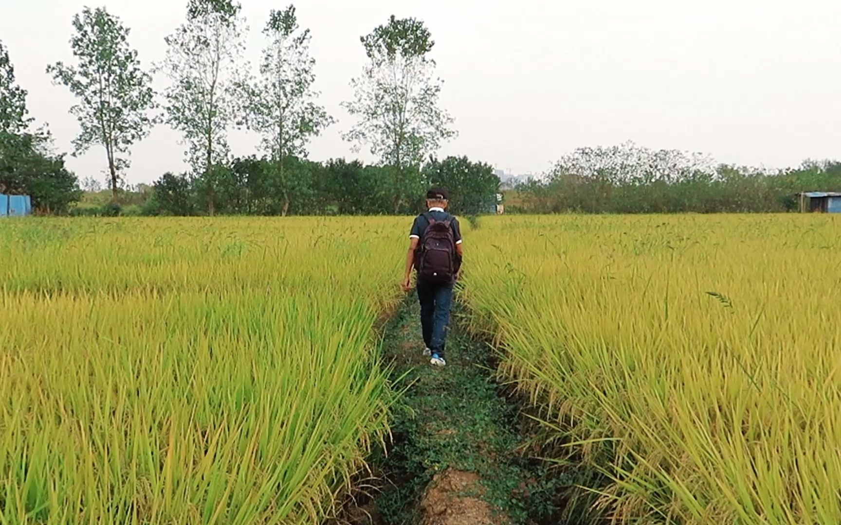
<path id="1" fill-rule="evenodd" d="M 548 459 L 608 477 L 580 489 L 612 521 L 838 523 L 839 227 L 486 217 L 461 299 L 563 443 Z M 0 523 L 330 516 L 388 433 L 374 327 L 407 229 L 0 224 Z"/>

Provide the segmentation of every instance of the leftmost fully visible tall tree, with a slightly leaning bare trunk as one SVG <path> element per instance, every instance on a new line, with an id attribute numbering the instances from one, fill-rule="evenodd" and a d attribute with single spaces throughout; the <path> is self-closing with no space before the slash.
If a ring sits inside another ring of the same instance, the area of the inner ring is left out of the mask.
<path id="1" fill-rule="evenodd" d="M 126 156 L 144 139 L 155 119 L 151 76 L 140 68 L 137 51 L 129 45 L 130 29 L 105 8 L 82 9 L 73 17 L 76 34 L 70 40 L 76 66 L 47 66 L 56 84 L 64 84 L 79 102 L 71 108 L 82 128 L 73 141 L 74 155 L 95 144 L 105 148 L 114 200 Z"/>

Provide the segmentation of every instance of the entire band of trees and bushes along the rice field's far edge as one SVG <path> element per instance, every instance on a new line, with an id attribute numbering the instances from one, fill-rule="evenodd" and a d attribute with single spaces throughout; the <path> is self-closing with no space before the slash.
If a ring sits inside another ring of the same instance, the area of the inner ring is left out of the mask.
<path id="1" fill-rule="evenodd" d="M 440 107 L 429 29 L 395 18 L 360 37 L 368 62 L 351 80 L 342 107 L 354 123 L 342 134 L 367 148 L 375 165 L 307 159 L 309 141 L 336 118 L 318 103 L 312 35 L 294 5 L 271 10 L 262 29 L 262 58 L 243 60 L 245 20 L 232 0 L 188 0 L 182 24 L 167 35 L 166 55 L 142 67 L 130 29 L 105 8 L 72 18 L 74 61 L 46 72 L 75 97 L 79 124 L 72 155 L 103 151 L 109 202 L 94 213 L 120 213 L 130 149 L 158 123 L 182 135 L 189 169 L 163 174 L 132 204 L 148 214 L 408 213 L 427 184 L 448 186 L 459 213 L 490 209 L 500 181 L 489 165 L 464 157 L 437 160 L 456 136 Z M 167 78 L 156 92 L 152 76 Z M 261 137 L 260 155 L 232 155 L 230 129 Z M 64 213 L 80 192 L 46 126 L 34 129 L 26 92 L 15 82 L 0 42 L 0 192 L 27 193 L 41 212 Z M 783 171 L 717 165 L 705 155 L 648 150 L 627 143 L 579 148 L 540 179 L 516 188 L 506 209 L 531 213 L 759 212 L 796 207 L 803 190 L 841 190 L 838 162 Z M 86 184 L 88 188 L 91 184 Z M 98 186 L 98 183 L 97 183 Z"/>

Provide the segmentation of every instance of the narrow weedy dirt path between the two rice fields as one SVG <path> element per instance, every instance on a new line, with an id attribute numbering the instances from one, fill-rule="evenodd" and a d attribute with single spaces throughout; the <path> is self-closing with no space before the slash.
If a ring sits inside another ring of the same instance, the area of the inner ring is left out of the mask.
<path id="1" fill-rule="evenodd" d="M 373 465 L 386 480 L 358 523 L 504 525 L 553 520 L 563 480 L 526 450 L 516 402 L 492 380 L 491 350 L 458 328 L 447 336 L 447 366 L 423 356 L 414 294 L 386 328 L 383 354 L 395 386 L 388 454 Z"/>

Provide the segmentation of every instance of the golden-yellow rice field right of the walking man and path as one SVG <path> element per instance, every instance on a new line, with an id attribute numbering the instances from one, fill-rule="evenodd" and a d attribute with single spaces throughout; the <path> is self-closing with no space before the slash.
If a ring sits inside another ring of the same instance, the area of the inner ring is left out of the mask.
<path id="1" fill-rule="evenodd" d="M 463 298 L 613 521 L 839 523 L 839 228 L 483 218 Z"/>

